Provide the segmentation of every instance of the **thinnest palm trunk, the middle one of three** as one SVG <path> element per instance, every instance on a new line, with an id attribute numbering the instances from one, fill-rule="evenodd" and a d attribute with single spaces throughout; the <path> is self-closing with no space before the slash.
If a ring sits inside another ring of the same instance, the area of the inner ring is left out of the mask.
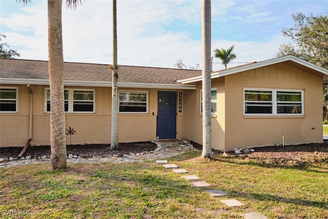
<path id="1" fill-rule="evenodd" d="M 118 148 L 118 91 L 117 91 L 117 28 L 116 28 L 116 0 L 113 0 L 113 66 L 112 66 L 112 128 L 111 149 Z"/>

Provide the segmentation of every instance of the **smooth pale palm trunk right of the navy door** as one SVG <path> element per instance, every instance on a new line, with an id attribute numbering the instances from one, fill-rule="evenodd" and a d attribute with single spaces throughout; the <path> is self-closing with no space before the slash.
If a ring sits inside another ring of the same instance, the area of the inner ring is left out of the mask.
<path id="1" fill-rule="evenodd" d="M 203 148 L 201 157 L 212 159 L 211 145 L 211 0 L 202 0 L 202 108 Z"/>

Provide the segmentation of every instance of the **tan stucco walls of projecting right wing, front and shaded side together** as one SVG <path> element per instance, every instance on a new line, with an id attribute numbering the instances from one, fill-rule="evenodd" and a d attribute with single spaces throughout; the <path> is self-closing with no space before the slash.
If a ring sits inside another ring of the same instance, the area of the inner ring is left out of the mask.
<path id="1" fill-rule="evenodd" d="M 202 117 L 199 113 L 201 82 L 196 91 L 185 91 L 183 137 L 202 144 Z M 212 148 L 232 151 L 282 144 L 323 142 L 322 78 L 276 64 L 212 79 L 217 88 L 217 115 L 212 117 Z M 304 116 L 244 116 L 243 89 L 281 88 L 304 90 Z M 315 129 L 312 129 L 315 127 Z"/>

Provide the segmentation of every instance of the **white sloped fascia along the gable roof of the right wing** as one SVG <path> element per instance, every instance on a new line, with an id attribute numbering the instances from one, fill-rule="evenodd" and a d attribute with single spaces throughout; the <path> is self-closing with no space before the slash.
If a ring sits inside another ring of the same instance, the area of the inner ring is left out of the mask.
<path id="1" fill-rule="evenodd" d="M 239 73 L 239 72 L 243 72 L 243 71 L 248 71 L 248 70 L 252 70 L 255 68 L 261 68 L 264 66 L 274 65 L 277 63 L 287 62 L 287 61 L 292 61 L 292 62 L 298 63 L 302 66 L 305 66 L 305 67 L 311 68 L 315 71 L 318 71 L 325 76 L 328 76 L 327 69 L 322 68 L 317 65 L 314 65 L 307 61 L 304 61 L 303 59 L 297 58 L 293 55 L 287 55 L 287 56 L 282 56 L 282 57 L 278 57 L 278 58 L 272 58 L 272 59 L 265 60 L 265 61 L 258 62 L 258 63 L 253 63 L 253 64 L 239 66 L 239 67 L 235 67 L 235 68 L 231 68 L 231 69 L 224 69 L 224 70 L 216 71 L 216 72 L 211 73 L 211 79 L 217 78 L 217 77 L 222 77 L 222 76 L 227 76 L 230 74 L 235 74 L 235 73 Z M 182 84 L 187 84 L 187 83 L 192 83 L 192 82 L 199 82 L 201 80 L 202 80 L 202 77 L 198 76 L 198 77 L 182 79 L 177 82 L 182 83 Z"/>

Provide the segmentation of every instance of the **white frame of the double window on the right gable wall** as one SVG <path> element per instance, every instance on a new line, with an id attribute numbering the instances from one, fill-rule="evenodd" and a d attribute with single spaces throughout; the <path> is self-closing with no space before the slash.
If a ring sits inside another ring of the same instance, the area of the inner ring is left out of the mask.
<path id="1" fill-rule="evenodd" d="M 245 113 L 245 91 L 271 91 L 272 92 L 272 113 Z M 277 92 L 300 92 L 301 102 L 285 102 L 301 104 L 302 112 L 300 113 L 277 113 L 277 105 L 281 102 L 277 101 Z M 243 115 L 244 116 L 302 116 L 304 115 L 304 90 L 300 89 L 281 89 L 281 88 L 244 88 L 243 90 Z"/>

